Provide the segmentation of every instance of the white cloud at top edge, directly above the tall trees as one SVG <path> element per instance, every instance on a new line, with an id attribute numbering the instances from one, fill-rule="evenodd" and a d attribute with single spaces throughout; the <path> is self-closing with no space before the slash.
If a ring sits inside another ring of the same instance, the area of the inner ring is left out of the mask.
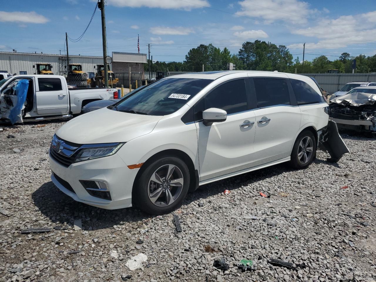
<path id="1" fill-rule="evenodd" d="M 270 23 L 282 20 L 293 24 L 303 24 L 307 20 L 300 17 L 308 17 L 314 12 L 307 2 L 300 0 L 253 0 L 252 2 L 243 0 L 238 4 L 241 6 L 241 11 L 238 11 L 237 15 L 262 18 Z"/>

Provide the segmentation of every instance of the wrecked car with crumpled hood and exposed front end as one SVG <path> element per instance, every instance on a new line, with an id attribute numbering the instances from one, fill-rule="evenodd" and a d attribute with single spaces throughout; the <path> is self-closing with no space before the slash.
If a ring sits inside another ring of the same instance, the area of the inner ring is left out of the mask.
<path id="1" fill-rule="evenodd" d="M 338 128 L 376 133 L 376 86 L 357 87 L 330 100 L 329 116 Z"/>

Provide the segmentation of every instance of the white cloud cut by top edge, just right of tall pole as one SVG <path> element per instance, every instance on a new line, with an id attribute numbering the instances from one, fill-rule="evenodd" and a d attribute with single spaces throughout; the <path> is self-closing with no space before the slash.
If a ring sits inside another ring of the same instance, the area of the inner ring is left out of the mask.
<path id="1" fill-rule="evenodd" d="M 117 7 L 132 7 L 140 8 L 142 6 L 147 8 L 161 8 L 161 9 L 184 9 L 191 11 L 191 9 L 210 7 L 208 0 L 190 0 L 187 2 L 178 0 L 108 0 L 108 5 Z"/>

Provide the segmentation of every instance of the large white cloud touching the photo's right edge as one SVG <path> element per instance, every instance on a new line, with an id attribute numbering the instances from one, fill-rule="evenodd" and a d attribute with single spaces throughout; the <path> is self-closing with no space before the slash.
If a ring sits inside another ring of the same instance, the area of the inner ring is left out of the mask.
<path id="1" fill-rule="evenodd" d="M 348 45 L 375 42 L 376 11 L 358 15 L 340 16 L 337 19 L 318 19 L 315 26 L 291 33 L 317 38 L 318 42 L 306 43 L 306 49 L 337 49 Z M 302 44 L 291 44 L 290 49 L 302 49 Z"/>

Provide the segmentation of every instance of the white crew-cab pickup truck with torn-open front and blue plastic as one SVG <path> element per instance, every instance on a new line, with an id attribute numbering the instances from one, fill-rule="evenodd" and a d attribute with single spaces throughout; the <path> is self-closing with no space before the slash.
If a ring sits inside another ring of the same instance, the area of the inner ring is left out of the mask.
<path id="1" fill-rule="evenodd" d="M 9 115 L 17 104 L 16 85 L 24 79 L 29 83 L 22 83 L 26 99 L 19 95 L 25 99 L 17 108 L 21 122 L 72 117 L 89 102 L 118 98 L 116 88 L 68 88 L 65 77 L 59 75 L 17 75 L 0 80 L 0 119 L 12 121 Z"/>

